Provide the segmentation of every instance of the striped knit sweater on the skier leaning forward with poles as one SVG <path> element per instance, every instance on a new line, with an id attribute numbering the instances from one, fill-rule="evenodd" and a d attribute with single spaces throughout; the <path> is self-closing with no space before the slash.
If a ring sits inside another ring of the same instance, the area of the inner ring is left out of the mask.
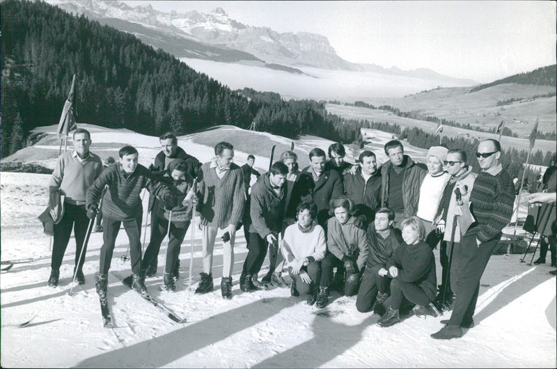
<path id="1" fill-rule="evenodd" d="M 108 166 L 87 190 L 87 207 L 99 203 L 104 186 L 108 186 L 108 190 L 102 198 L 102 215 L 116 221 L 141 218 L 140 195 L 144 188 L 151 196 L 161 199 L 171 194 L 168 186 L 155 180 L 145 166 L 139 164 L 134 173 L 125 173 L 122 164 L 115 163 Z"/>

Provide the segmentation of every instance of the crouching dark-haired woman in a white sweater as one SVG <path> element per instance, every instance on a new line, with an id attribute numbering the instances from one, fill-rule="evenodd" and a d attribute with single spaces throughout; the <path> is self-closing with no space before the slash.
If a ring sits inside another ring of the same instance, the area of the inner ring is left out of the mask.
<path id="1" fill-rule="evenodd" d="M 321 260 L 325 256 L 325 232 L 315 223 L 317 205 L 301 202 L 296 210 L 297 222 L 284 231 L 283 253 L 292 278 L 290 295 L 307 295 L 308 305 L 315 304 L 317 283 L 321 279 Z"/>

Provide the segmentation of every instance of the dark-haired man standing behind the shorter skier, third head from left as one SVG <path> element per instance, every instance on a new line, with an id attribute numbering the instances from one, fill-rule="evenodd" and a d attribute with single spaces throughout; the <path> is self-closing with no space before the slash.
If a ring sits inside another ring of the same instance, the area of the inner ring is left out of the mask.
<path id="1" fill-rule="evenodd" d="M 178 146 L 178 138 L 171 132 L 166 132 L 159 137 L 159 142 L 161 144 L 162 150 L 155 157 L 155 163 L 149 166 L 149 170 L 155 174 L 159 179 L 164 178 L 164 175 L 170 175 L 168 173 L 168 166 L 177 159 L 181 159 L 185 162 L 186 173 L 191 175 L 192 178 L 197 178 L 199 168 L 201 163 L 196 157 L 188 155 L 180 146 Z M 151 214 L 156 214 L 159 211 L 159 202 L 157 198 L 149 198 L 148 212 Z M 151 233 L 155 233 L 155 222 L 151 221 Z M 155 276 L 157 274 L 157 267 L 159 264 L 158 254 L 151 258 L 150 264 L 145 265 L 146 275 L 148 277 Z M 180 260 L 178 260 L 177 268 L 180 267 Z"/>

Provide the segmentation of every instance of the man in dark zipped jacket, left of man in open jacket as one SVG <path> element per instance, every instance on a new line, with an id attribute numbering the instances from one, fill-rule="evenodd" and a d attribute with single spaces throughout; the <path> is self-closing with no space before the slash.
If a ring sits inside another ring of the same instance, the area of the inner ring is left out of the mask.
<path id="1" fill-rule="evenodd" d="M 361 152 L 356 173 L 344 175 L 346 195 L 354 203 L 354 216 L 366 217 L 366 227 L 373 221 L 375 209 L 381 205 L 381 171 L 377 170 L 375 154 L 370 150 Z"/>

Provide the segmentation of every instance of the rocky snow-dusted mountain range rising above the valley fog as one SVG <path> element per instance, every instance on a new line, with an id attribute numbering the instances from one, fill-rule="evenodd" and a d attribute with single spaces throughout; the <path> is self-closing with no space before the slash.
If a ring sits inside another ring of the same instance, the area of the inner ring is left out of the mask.
<path id="1" fill-rule="evenodd" d="M 70 13 L 83 14 L 101 24 L 134 34 L 178 58 L 198 58 L 225 63 L 258 65 L 304 74 L 304 68 L 375 72 L 421 79 L 436 79 L 446 85 L 476 84 L 427 68 L 400 70 L 375 64 L 356 64 L 336 54 L 327 37 L 308 32 L 278 33 L 269 27 L 249 26 L 231 19 L 225 10 L 210 13 L 162 12 L 146 6 L 128 6 L 120 1 L 48 0 Z"/>

